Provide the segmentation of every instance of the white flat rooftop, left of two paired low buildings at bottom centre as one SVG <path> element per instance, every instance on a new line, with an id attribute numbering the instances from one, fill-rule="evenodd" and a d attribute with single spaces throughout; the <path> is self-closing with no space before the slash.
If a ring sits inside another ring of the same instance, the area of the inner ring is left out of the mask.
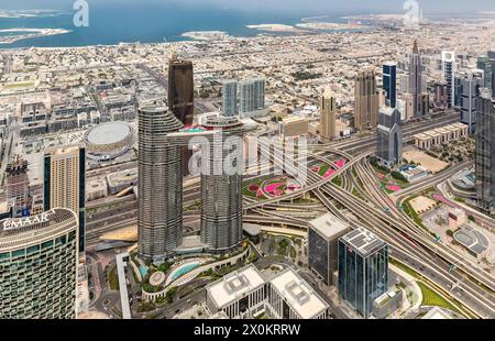
<path id="1" fill-rule="evenodd" d="M 262 274 L 251 264 L 208 285 L 206 290 L 215 305 L 223 308 L 264 284 Z"/>

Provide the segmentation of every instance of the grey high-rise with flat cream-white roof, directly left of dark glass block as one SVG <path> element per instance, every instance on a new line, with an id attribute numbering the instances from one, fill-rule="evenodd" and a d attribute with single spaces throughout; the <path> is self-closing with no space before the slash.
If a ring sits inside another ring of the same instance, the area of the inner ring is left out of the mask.
<path id="1" fill-rule="evenodd" d="M 333 274 L 338 270 L 337 250 L 339 238 L 351 231 L 351 227 L 332 215 L 311 220 L 308 229 L 308 265 L 326 285 L 334 285 Z"/>

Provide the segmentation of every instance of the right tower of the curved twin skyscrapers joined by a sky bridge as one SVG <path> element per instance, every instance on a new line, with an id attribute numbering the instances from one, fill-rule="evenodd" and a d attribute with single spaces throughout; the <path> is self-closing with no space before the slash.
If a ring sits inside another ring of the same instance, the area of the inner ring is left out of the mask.
<path id="1" fill-rule="evenodd" d="M 244 147 L 238 145 L 237 157 L 232 157 L 232 151 L 224 148 L 222 142 L 241 136 L 244 124 L 237 118 L 216 117 L 204 125 L 215 133 L 211 143 L 201 146 L 201 242 L 210 252 L 223 253 L 242 242 Z M 232 157 L 232 169 L 224 167 L 227 157 Z"/>

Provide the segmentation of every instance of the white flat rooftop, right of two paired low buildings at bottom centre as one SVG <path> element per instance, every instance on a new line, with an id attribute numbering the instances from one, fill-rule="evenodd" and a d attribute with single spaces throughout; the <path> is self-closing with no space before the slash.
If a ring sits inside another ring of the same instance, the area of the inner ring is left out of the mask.
<path id="1" fill-rule="evenodd" d="M 328 309 L 328 304 L 292 268 L 282 272 L 271 284 L 301 319 L 316 318 Z"/>

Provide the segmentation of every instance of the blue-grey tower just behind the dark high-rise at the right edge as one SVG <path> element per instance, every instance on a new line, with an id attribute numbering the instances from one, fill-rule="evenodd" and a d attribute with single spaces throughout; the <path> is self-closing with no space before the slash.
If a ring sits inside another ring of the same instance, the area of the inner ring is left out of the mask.
<path id="1" fill-rule="evenodd" d="M 476 98 L 484 87 L 484 73 L 481 69 L 469 70 L 461 77 L 461 122 L 469 125 L 470 134 L 476 128 Z"/>

